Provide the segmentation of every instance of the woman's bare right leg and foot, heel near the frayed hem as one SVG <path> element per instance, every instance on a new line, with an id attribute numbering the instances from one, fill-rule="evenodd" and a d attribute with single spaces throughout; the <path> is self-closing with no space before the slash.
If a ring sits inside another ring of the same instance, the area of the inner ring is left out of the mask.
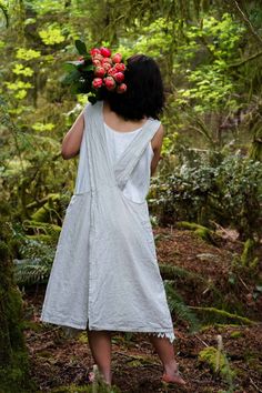
<path id="1" fill-rule="evenodd" d="M 163 363 L 164 373 L 171 380 L 170 382 L 184 385 L 185 381 L 178 373 L 178 363 L 174 360 L 173 344 L 167 337 L 158 337 L 153 334 L 150 334 L 149 337 L 161 362 Z"/>

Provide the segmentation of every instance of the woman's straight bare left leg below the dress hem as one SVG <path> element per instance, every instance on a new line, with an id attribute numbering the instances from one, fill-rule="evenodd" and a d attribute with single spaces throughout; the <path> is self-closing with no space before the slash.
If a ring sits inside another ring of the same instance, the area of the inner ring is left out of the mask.
<path id="1" fill-rule="evenodd" d="M 89 331 L 88 340 L 93 360 L 105 382 L 111 385 L 111 334 L 107 331 Z"/>

